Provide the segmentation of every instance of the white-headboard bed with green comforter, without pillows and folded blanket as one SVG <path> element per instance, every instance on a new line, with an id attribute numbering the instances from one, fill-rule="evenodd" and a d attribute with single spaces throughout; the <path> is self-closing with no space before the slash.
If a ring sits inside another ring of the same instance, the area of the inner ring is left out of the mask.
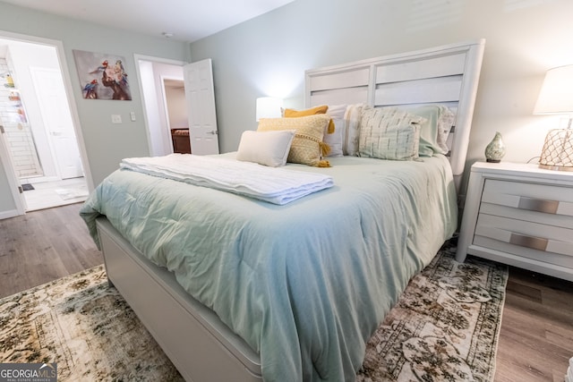
<path id="1" fill-rule="evenodd" d="M 308 107 L 453 110 L 446 155 L 289 163 L 333 182 L 283 205 L 129 170 L 92 192 L 81 216 L 108 279 L 186 380 L 355 378 L 369 336 L 457 228 L 483 46 L 305 73 Z"/>

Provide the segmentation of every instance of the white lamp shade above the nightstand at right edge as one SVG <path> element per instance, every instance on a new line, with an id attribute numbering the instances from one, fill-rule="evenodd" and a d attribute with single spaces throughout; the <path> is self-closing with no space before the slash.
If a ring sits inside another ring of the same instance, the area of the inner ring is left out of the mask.
<path id="1" fill-rule="evenodd" d="M 547 71 L 534 114 L 573 113 L 573 65 Z"/>

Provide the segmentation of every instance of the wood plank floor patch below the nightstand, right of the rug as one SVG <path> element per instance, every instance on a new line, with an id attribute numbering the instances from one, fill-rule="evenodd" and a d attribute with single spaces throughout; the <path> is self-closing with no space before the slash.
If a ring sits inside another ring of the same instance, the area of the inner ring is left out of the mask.
<path id="1" fill-rule="evenodd" d="M 563 382 L 573 357 L 573 283 L 510 267 L 496 382 Z"/>

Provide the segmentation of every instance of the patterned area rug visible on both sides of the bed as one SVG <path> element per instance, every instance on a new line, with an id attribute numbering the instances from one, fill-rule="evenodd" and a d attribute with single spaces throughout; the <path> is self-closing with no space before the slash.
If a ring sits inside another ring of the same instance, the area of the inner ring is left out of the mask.
<path id="1" fill-rule="evenodd" d="M 489 381 L 507 268 L 445 247 L 368 344 L 356 381 Z M 1 362 L 57 362 L 58 381 L 183 380 L 103 266 L 0 300 Z"/>

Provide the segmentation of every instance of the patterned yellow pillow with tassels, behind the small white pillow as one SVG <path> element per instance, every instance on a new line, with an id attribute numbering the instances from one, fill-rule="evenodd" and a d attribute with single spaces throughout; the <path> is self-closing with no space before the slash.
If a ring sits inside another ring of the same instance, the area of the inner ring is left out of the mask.
<path id="1" fill-rule="evenodd" d="M 295 139 L 290 146 L 287 162 L 307 166 L 329 167 L 328 160 L 322 160 L 324 129 L 330 121 L 329 115 L 308 115 L 293 118 L 261 118 L 259 132 L 295 130 Z"/>

